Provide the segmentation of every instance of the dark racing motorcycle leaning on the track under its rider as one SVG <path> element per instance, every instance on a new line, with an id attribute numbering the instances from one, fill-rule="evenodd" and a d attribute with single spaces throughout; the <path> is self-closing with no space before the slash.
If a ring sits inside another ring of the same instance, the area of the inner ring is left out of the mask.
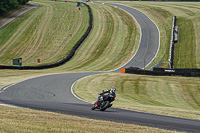
<path id="1" fill-rule="evenodd" d="M 113 102 L 114 100 L 115 97 L 110 94 L 99 94 L 97 101 L 93 104 L 93 107 L 91 109 L 100 109 L 100 111 L 105 111 L 107 108 L 110 108 L 112 106 L 111 102 Z"/>

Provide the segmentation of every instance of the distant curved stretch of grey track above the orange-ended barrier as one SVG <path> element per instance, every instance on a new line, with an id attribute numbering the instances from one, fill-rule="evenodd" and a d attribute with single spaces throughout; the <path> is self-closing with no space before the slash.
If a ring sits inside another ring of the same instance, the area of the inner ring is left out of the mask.
<path id="1" fill-rule="evenodd" d="M 154 22 L 141 11 L 119 4 L 105 3 L 120 8 L 129 13 L 138 22 L 141 31 L 140 45 L 137 53 L 123 67 L 147 66 L 157 55 L 160 46 L 160 32 Z"/>

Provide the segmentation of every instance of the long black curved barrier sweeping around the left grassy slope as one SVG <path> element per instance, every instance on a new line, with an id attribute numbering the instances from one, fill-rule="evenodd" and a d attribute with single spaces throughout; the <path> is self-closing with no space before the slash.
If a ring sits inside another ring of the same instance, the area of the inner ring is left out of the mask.
<path id="1" fill-rule="evenodd" d="M 78 42 L 72 48 L 72 50 L 70 51 L 70 53 L 69 53 L 69 55 L 67 57 L 65 57 L 64 59 L 59 60 L 56 63 L 47 64 L 47 65 L 39 65 L 39 66 L 4 66 L 4 65 L 0 65 L 0 69 L 39 70 L 39 69 L 48 69 L 48 68 L 58 67 L 58 66 L 61 66 L 61 65 L 65 64 L 66 62 L 68 62 L 74 56 L 74 54 L 77 51 L 77 49 L 80 47 L 80 45 L 83 43 L 83 41 L 88 37 L 90 31 L 92 30 L 92 26 L 93 26 L 92 10 L 91 10 L 89 5 L 87 5 L 85 3 L 83 3 L 83 4 L 88 8 L 89 26 L 88 26 L 87 31 L 85 32 L 85 34 L 81 37 L 80 40 L 78 40 Z"/>

